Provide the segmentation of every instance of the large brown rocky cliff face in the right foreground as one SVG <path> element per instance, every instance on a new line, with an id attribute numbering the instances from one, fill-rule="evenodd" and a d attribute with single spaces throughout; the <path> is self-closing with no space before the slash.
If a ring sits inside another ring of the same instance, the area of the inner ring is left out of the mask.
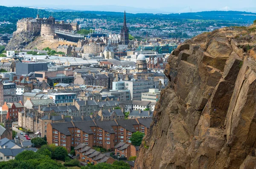
<path id="1" fill-rule="evenodd" d="M 136 169 L 254 169 L 256 28 L 224 28 L 169 56 Z"/>

